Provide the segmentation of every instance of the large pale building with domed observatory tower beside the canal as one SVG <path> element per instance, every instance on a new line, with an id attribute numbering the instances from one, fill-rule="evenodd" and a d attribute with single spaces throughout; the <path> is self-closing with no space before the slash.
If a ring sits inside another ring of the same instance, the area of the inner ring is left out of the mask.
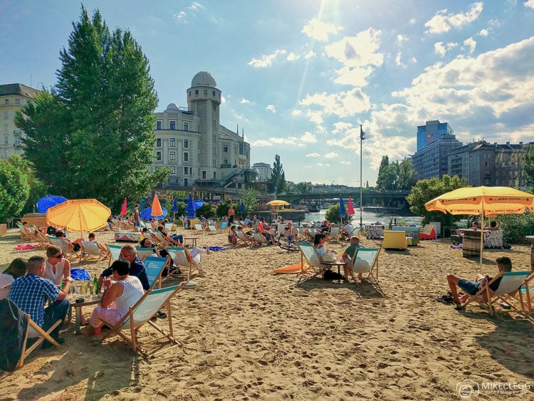
<path id="1" fill-rule="evenodd" d="M 220 124 L 221 90 L 213 75 L 201 71 L 187 89 L 187 108 L 171 103 L 157 117 L 155 162 L 171 170 L 162 189 L 197 192 L 199 197 L 222 199 L 243 194 L 256 185 L 251 169 L 250 144 Z"/>

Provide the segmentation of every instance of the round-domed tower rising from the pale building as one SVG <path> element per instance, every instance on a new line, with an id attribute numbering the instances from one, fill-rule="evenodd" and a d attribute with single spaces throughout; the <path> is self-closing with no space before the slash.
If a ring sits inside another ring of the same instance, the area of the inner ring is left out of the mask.
<path id="1" fill-rule="evenodd" d="M 187 89 L 187 107 L 200 118 L 200 165 L 206 166 L 206 172 L 200 173 L 200 179 L 220 178 L 216 177 L 221 165 L 221 155 L 218 154 L 220 105 L 221 91 L 217 89 L 213 75 L 207 71 L 194 75 L 191 88 Z"/>

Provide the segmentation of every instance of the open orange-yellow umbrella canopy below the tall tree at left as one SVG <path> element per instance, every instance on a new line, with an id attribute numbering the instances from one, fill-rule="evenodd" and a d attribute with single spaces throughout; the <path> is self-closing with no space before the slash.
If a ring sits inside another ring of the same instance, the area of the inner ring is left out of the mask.
<path id="1" fill-rule="evenodd" d="M 70 231 L 95 231 L 108 222 L 109 207 L 96 199 L 70 199 L 46 211 L 46 222 Z"/>

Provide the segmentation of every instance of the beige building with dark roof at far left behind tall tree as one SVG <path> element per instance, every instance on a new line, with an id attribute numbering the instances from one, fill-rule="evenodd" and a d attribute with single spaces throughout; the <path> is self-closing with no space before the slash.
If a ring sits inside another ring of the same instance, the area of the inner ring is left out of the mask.
<path id="1" fill-rule="evenodd" d="M 39 90 L 21 83 L 0 85 L 0 159 L 23 154 L 24 132 L 15 126 L 15 115 L 38 93 Z"/>

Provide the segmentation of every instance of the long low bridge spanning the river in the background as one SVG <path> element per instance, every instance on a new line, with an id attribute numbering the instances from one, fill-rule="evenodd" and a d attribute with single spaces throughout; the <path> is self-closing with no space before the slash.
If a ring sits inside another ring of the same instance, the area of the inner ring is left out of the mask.
<path id="1" fill-rule="evenodd" d="M 406 197 L 409 195 L 409 191 L 364 191 L 362 193 L 363 206 L 381 206 L 381 207 L 402 207 L 409 209 L 409 204 L 406 202 Z M 289 203 L 295 203 L 300 200 L 311 199 L 335 199 L 342 197 L 347 205 L 349 197 L 352 198 L 352 204 L 354 207 L 360 206 L 360 191 L 354 192 L 323 192 L 318 194 L 279 194 L 278 199 L 285 200 Z"/>

